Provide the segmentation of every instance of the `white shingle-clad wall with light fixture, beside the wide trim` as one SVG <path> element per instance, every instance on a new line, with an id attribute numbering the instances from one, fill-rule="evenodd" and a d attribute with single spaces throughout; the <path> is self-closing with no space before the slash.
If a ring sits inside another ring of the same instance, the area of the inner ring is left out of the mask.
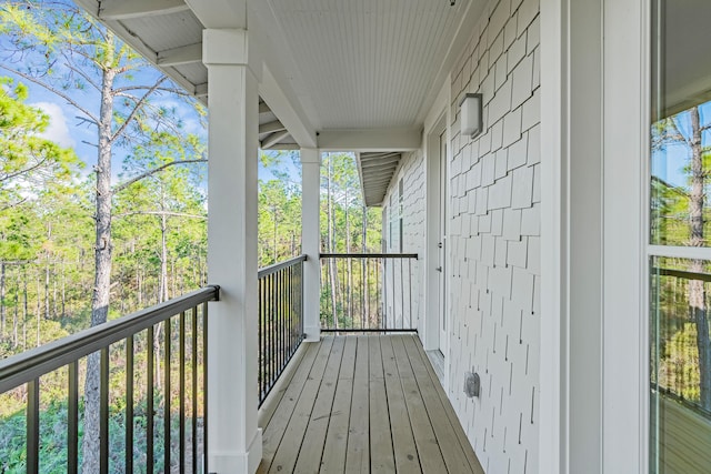
<path id="1" fill-rule="evenodd" d="M 452 71 L 449 394 L 487 473 L 534 473 L 539 2 L 492 0 L 485 12 Z M 483 93 L 484 131 L 473 141 L 459 135 L 465 92 Z M 472 367 L 481 375 L 479 399 L 461 390 Z"/>

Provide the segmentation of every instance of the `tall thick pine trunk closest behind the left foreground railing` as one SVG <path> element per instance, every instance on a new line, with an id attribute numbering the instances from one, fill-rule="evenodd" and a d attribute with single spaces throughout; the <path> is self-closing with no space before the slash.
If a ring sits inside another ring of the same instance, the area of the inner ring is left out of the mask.
<path id="1" fill-rule="evenodd" d="M 111 51 L 107 52 L 107 63 L 113 60 Z M 99 133 L 99 152 L 97 160 L 97 214 L 94 242 L 94 279 L 91 295 L 91 325 L 107 321 L 109 315 L 109 297 L 111 288 L 111 145 L 113 121 L 113 80 L 117 71 L 107 69 L 101 81 L 101 109 Z M 84 437 L 81 470 L 84 474 L 99 472 L 99 405 L 100 405 L 100 354 L 89 355 L 87 360 L 87 381 L 84 384 Z"/>

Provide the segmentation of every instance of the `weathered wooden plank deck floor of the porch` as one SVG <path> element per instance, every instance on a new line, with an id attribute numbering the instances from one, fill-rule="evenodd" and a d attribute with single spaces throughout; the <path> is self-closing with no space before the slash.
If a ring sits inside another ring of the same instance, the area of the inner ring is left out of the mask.
<path id="1" fill-rule="evenodd" d="M 294 363 L 259 473 L 483 473 L 417 336 L 327 336 Z"/>

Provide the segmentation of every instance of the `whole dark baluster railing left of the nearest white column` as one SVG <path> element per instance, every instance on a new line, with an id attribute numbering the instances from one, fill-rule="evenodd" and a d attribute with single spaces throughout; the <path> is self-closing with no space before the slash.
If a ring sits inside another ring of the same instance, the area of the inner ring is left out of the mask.
<path id="1" fill-rule="evenodd" d="M 51 407 L 43 389 L 67 393 L 66 471 L 80 470 L 80 380 L 97 355 L 99 472 L 132 472 L 134 463 L 148 473 L 209 472 L 207 302 L 218 297 L 219 288 L 208 286 L 0 361 L 0 394 L 26 405 L 27 472 L 43 471 L 40 448 L 48 450 L 40 436 L 42 410 Z M 122 455 L 110 450 L 112 440 Z"/>

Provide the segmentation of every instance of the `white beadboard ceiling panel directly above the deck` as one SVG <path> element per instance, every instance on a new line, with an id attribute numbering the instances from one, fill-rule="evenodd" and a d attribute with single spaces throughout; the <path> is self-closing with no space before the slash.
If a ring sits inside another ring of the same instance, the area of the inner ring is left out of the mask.
<path id="1" fill-rule="evenodd" d="M 408 128 L 467 1 L 266 0 L 317 129 Z M 298 85 L 299 87 L 299 85 Z"/>

